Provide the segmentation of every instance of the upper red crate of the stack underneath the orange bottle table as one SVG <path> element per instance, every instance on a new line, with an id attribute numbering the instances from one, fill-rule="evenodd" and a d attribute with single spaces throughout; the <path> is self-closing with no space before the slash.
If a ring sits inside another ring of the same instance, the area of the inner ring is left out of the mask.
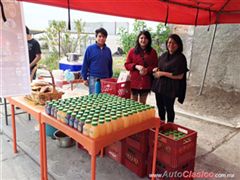
<path id="1" fill-rule="evenodd" d="M 126 143 L 141 153 L 148 152 L 148 132 L 149 130 L 141 133 L 134 134 L 126 138 Z"/>

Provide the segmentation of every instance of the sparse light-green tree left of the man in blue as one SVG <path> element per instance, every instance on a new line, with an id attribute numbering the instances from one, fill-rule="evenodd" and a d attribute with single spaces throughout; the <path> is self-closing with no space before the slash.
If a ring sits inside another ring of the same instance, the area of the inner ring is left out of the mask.
<path id="1" fill-rule="evenodd" d="M 40 63 L 45 64 L 49 69 L 58 68 L 59 47 L 60 56 L 67 53 L 76 52 L 77 47 L 80 48 L 81 42 L 86 41 L 87 35 L 82 35 L 85 23 L 81 20 L 74 21 L 74 29 L 76 32 L 67 30 L 65 21 L 53 20 L 46 33 L 41 37 L 44 42 L 44 47 L 49 50 L 49 53 L 44 56 Z"/>

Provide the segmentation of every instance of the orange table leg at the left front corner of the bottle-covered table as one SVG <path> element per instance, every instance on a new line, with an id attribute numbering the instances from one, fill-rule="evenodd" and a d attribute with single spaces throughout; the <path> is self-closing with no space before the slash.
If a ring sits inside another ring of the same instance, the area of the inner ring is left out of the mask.
<path id="1" fill-rule="evenodd" d="M 45 123 L 41 123 L 42 129 L 42 153 L 43 153 L 43 171 L 44 171 L 44 179 L 48 179 L 48 170 L 47 170 L 47 146 L 46 146 L 46 129 Z"/>

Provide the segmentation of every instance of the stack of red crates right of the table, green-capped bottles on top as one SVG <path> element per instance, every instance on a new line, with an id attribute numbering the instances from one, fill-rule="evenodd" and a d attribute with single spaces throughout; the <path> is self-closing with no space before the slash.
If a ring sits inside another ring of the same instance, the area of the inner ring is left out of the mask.
<path id="1" fill-rule="evenodd" d="M 148 174 L 151 174 L 154 131 L 149 132 Z M 167 123 L 160 127 L 158 135 L 156 173 L 157 179 L 183 179 L 170 177 L 174 172 L 194 171 L 197 132 L 177 124 Z M 164 175 L 164 177 L 160 177 Z M 186 179 L 186 178 L 184 178 Z M 189 178 L 191 179 L 191 178 Z"/>

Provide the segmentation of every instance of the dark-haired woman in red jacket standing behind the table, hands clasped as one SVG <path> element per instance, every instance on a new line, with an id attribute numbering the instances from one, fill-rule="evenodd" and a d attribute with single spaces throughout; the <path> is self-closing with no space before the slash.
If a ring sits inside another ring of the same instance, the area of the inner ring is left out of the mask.
<path id="1" fill-rule="evenodd" d="M 152 38 L 148 31 L 141 31 L 135 48 L 128 52 L 125 68 L 130 71 L 131 98 L 146 103 L 152 86 L 152 70 L 157 66 L 158 58 L 152 48 Z"/>

